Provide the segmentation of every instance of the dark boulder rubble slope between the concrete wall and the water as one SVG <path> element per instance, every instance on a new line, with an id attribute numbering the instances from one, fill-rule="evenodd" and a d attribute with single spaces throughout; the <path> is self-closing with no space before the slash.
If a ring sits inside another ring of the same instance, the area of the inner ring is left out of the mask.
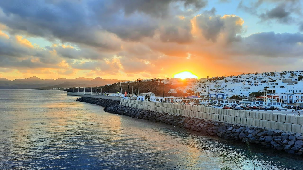
<path id="1" fill-rule="evenodd" d="M 296 133 L 274 132 L 259 127 L 242 126 L 196 117 L 143 110 L 119 105 L 118 100 L 82 97 L 77 99 L 77 101 L 103 106 L 105 107 L 104 110 L 109 113 L 151 120 L 158 123 L 166 123 L 191 131 L 201 132 L 202 134 L 208 134 L 223 139 L 249 142 L 265 148 L 272 148 L 291 154 L 303 154 L 303 137 L 301 135 L 298 136 Z"/>

